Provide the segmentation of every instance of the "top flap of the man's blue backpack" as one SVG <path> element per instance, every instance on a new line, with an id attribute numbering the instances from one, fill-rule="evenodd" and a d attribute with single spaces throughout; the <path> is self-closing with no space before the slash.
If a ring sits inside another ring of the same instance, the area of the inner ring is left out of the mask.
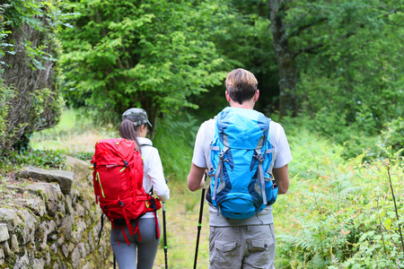
<path id="1" fill-rule="evenodd" d="M 228 107 L 217 115 L 215 128 L 224 146 L 255 150 L 268 141 L 269 118 L 253 109 Z"/>

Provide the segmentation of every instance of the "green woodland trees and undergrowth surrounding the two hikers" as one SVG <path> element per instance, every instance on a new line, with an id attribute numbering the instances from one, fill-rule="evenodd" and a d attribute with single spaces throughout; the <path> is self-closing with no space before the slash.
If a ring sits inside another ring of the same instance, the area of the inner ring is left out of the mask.
<path id="1" fill-rule="evenodd" d="M 95 141 L 80 135 L 117 135 L 140 107 L 172 203 L 198 214 L 185 185 L 195 134 L 242 67 L 294 155 L 274 206 L 277 267 L 404 268 L 403 12 L 400 0 L 0 1 L 0 178 L 88 160 L 75 144 Z M 69 113 L 75 125 L 55 128 Z"/>

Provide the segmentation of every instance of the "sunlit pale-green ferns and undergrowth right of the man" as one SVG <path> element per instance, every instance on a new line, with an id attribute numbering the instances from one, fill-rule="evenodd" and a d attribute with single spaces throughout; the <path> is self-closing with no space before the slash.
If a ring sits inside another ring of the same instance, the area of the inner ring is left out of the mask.
<path id="1" fill-rule="evenodd" d="M 388 162 L 364 161 L 365 154 L 345 161 L 343 147 L 302 126 L 286 124 L 285 129 L 290 130 L 294 161 L 289 169 L 295 176 L 288 194 L 274 205 L 276 227 L 281 230 L 277 233 L 277 267 L 402 268 L 401 152 L 381 148 L 382 155 L 391 158 L 398 219 Z"/>

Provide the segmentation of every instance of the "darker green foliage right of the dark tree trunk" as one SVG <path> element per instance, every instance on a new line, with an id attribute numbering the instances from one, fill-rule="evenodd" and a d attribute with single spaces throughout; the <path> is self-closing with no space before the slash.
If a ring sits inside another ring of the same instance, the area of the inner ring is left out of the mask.
<path id="1" fill-rule="evenodd" d="M 328 130 L 324 134 L 332 132 L 326 117 L 368 137 L 403 115 L 396 101 L 404 99 L 403 11 L 400 1 L 362 0 L 299 1 L 287 11 L 292 44 L 311 53 L 296 57 L 301 111 Z"/>

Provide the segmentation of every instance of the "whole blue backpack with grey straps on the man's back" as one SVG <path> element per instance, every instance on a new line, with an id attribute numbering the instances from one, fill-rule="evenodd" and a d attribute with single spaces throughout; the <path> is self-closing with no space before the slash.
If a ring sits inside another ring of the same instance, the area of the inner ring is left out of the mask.
<path id="1" fill-rule="evenodd" d="M 270 119 L 245 108 L 224 108 L 211 143 L 210 202 L 229 219 L 248 219 L 277 200 L 271 173 L 275 149 Z"/>

